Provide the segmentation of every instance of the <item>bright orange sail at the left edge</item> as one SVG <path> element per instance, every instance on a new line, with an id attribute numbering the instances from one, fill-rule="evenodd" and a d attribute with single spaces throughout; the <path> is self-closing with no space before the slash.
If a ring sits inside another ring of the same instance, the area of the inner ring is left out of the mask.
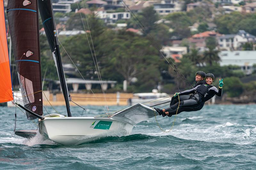
<path id="1" fill-rule="evenodd" d="M 12 80 L 4 19 L 4 1 L 0 0 L 0 103 L 13 100 Z"/>

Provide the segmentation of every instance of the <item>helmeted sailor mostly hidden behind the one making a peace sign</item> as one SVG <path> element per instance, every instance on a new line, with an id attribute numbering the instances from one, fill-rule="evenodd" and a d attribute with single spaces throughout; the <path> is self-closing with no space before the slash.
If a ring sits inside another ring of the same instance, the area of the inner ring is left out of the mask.
<path id="1" fill-rule="evenodd" d="M 193 85 L 193 88 L 195 88 L 196 86 L 198 85 L 202 85 L 202 84 L 205 84 L 205 81 L 204 81 L 204 78 L 205 78 L 205 72 L 204 71 L 197 71 L 196 72 L 196 83 Z M 187 96 L 180 96 L 180 100 L 188 100 L 188 97 Z M 170 102 L 170 106 L 174 105 L 175 103 L 177 103 L 179 101 L 178 97 L 172 97 L 171 99 L 171 102 Z M 170 115 L 169 117 L 171 117 L 172 115 Z"/>

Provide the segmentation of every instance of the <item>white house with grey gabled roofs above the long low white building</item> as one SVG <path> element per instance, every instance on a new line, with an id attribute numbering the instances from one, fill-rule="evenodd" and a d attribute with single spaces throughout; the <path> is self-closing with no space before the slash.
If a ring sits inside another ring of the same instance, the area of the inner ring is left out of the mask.
<path id="1" fill-rule="evenodd" d="M 220 48 L 227 50 L 237 49 L 246 42 L 256 42 L 256 37 L 244 30 L 239 30 L 237 34 L 222 35 L 218 39 Z"/>

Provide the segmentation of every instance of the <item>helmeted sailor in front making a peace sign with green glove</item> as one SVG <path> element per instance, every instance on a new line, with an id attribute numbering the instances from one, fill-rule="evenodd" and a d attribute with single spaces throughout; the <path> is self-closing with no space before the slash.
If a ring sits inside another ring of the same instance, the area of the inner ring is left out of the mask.
<path id="1" fill-rule="evenodd" d="M 166 109 L 159 109 L 156 107 L 154 109 L 156 109 L 158 114 L 163 117 L 166 115 L 169 117 L 171 117 L 171 115 L 175 115 L 177 109 L 177 114 L 184 111 L 191 112 L 201 110 L 204 106 L 204 102 L 210 100 L 215 94 L 217 96 L 221 96 L 222 94 L 222 86 L 224 84 L 223 79 L 219 81 L 219 89 L 212 85 L 213 81 L 214 75 L 212 73 L 208 73 L 205 76 L 205 84 L 197 85 L 195 88 L 174 94 L 174 97 L 179 95 L 180 102 L 177 102 Z M 192 95 L 188 95 L 191 93 Z"/>

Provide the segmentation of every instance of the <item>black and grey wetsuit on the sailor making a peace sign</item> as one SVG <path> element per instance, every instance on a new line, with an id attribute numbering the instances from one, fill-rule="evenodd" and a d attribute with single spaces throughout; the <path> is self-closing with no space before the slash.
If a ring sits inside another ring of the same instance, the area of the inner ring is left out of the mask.
<path id="1" fill-rule="evenodd" d="M 196 91 L 195 91 L 196 90 Z M 191 94 L 192 95 L 188 95 Z M 214 95 L 221 96 L 222 89 L 217 89 L 213 85 L 197 85 L 195 88 L 179 92 L 180 107 L 177 112 L 179 101 L 165 109 L 165 112 L 169 112 L 169 115 L 175 115 L 181 112 L 191 112 L 201 110 L 204 106 L 204 102 L 210 100 Z"/>

